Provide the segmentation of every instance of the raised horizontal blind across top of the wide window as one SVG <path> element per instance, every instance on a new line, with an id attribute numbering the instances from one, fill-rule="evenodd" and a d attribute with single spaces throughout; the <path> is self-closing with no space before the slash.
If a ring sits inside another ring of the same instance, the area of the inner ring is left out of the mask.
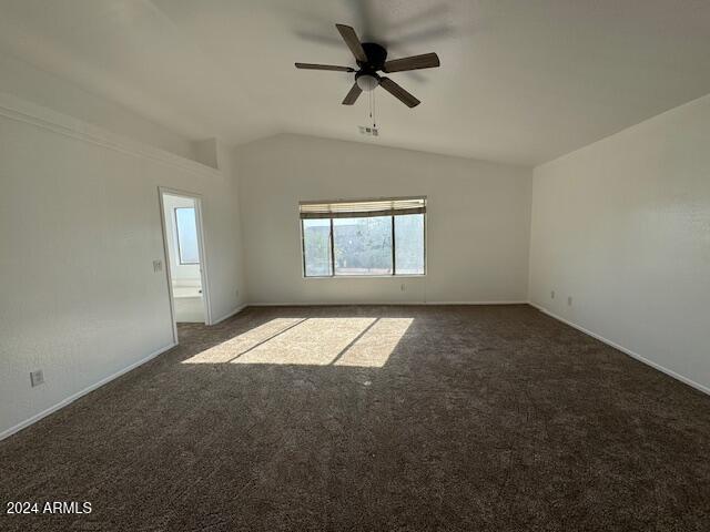
<path id="1" fill-rule="evenodd" d="M 301 219 L 366 218 L 426 213 L 426 197 L 367 200 L 362 202 L 301 202 Z"/>

